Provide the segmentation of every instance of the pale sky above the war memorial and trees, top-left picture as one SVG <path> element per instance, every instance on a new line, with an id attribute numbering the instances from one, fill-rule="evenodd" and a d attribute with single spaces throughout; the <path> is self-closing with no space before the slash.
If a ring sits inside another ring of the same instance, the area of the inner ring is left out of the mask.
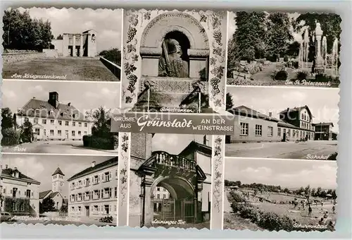
<path id="1" fill-rule="evenodd" d="M 19 8 L 25 11 L 25 8 Z M 51 32 L 56 38 L 63 33 L 82 33 L 94 29 L 97 32 L 98 52 L 111 48 L 121 49 L 122 11 L 120 9 L 91 8 L 27 8 L 31 18 L 43 18 L 51 23 Z"/>

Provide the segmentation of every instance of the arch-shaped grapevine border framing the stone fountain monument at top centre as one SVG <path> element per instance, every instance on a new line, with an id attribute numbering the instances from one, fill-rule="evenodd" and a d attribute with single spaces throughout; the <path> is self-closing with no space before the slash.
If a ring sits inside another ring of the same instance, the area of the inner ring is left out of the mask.
<path id="1" fill-rule="evenodd" d="M 129 10 L 125 11 L 124 18 L 126 19 L 124 28 L 127 32 L 124 32 L 123 42 L 123 71 L 125 73 L 125 81 L 122 80 L 122 99 L 123 103 L 127 105 L 133 105 L 137 99 L 137 81 L 140 76 L 138 68 L 141 66 L 139 61 L 140 56 L 137 49 L 140 44 L 139 38 L 142 37 L 142 31 L 144 30 L 143 25 L 149 24 L 154 18 L 152 18 L 152 11 L 142 10 Z M 172 13 L 176 11 L 162 11 L 156 9 L 156 15 L 162 13 Z M 190 16 L 199 20 L 199 23 L 203 26 L 203 30 L 206 31 L 209 41 L 209 72 L 208 72 L 208 84 L 209 84 L 209 104 L 210 107 L 215 109 L 225 107 L 225 64 L 226 64 L 226 40 L 223 33 L 226 30 L 226 11 L 179 11 L 180 13 L 186 13 Z M 147 26 L 147 25 L 146 25 Z M 128 81 L 128 82 L 127 82 Z"/>

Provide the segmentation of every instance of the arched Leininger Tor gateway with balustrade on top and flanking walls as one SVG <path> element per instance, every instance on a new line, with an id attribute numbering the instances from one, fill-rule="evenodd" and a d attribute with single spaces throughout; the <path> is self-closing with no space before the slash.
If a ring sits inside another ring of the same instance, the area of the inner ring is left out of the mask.
<path id="1" fill-rule="evenodd" d="M 161 221 L 207 221 L 211 148 L 191 141 L 179 155 L 165 151 L 145 152 L 145 160 L 142 160 L 136 155 L 143 157 L 144 150 L 151 151 L 151 148 L 138 148 L 136 141 L 150 143 L 152 135 L 133 135 L 132 144 L 135 143 L 135 147 L 132 145 L 131 152 L 130 227 L 151 227 L 153 223 Z M 208 164 L 208 167 L 204 165 L 208 168 L 208 174 L 203 172 L 197 158 Z M 160 187 L 168 191 L 169 198 L 154 195 L 156 188 Z M 154 224 L 154 227 L 157 225 Z"/>

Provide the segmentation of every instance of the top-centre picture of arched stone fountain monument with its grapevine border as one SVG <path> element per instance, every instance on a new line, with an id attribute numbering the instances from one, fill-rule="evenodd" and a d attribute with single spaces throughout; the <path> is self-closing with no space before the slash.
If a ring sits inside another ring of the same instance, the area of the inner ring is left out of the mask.
<path id="1" fill-rule="evenodd" d="M 125 11 L 123 106 L 134 112 L 224 108 L 226 29 L 225 11 Z"/>

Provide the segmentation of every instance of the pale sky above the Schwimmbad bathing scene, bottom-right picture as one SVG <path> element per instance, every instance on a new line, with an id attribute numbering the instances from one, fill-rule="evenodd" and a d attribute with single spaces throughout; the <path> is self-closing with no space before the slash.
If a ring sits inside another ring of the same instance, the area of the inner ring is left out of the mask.
<path id="1" fill-rule="evenodd" d="M 337 188 L 337 162 L 226 158 L 225 179 L 282 188 Z"/>

